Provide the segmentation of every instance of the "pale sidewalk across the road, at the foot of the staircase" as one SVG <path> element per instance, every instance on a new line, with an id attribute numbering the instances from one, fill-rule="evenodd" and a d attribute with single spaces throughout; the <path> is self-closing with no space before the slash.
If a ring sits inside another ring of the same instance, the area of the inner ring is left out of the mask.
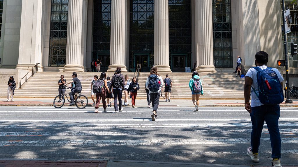
<path id="1" fill-rule="evenodd" d="M 14 102 L 7 102 L 6 98 L 0 98 L 0 106 L 53 106 L 54 99 L 46 99 L 46 98 L 15 98 Z M 92 105 L 93 101 L 91 98 L 88 98 L 89 106 Z M 288 106 L 288 107 L 298 107 L 298 99 L 292 99 L 293 103 L 285 104 L 285 102 L 281 103 L 280 106 Z M 131 106 L 131 99 L 128 99 Z M 123 99 L 122 99 L 123 103 Z M 69 103 L 66 101 L 64 105 L 68 105 Z M 102 103 L 101 103 L 102 104 Z M 114 105 L 114 100 L 112 102 Z M 136 107 L 138 106 L 148 106 L 147 100 L 136 100 Z M 169 106 L 169 107 L 192 107 L 192 100 L 171 100 L 170 103 L 165 102 L 165 100 L 161 97 L 159 100 L 159 106 Z M 244 106 L 244 100 L 200 100 L 200 106 L 230 106 L 230 107 L 242 107 Z"/>

